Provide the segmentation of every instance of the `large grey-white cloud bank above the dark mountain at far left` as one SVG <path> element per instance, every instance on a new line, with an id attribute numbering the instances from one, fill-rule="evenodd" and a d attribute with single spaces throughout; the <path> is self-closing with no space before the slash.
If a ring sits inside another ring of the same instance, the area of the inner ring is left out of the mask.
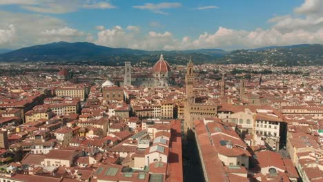
<path id="1" fill-rule="evenodd" d="M 41 14 L 26 14 L 0 11 L 0 29 L 8 27 L 15 32 L 13 41 L 3 48 L 21 48 L 29 45 L 50 43 L 52 41 L 84 41 L 86 34 L 68 28 L 65 21 Z"/>

